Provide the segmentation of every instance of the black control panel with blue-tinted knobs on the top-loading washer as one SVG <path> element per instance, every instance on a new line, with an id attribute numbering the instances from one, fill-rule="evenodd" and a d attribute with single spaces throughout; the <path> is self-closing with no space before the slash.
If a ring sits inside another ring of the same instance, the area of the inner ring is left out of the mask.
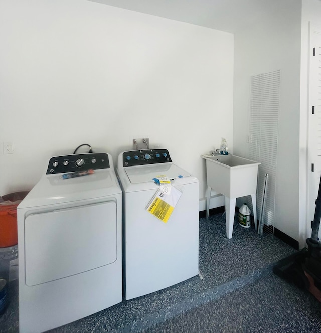
<path id="1" fill-rule="evenodd" d="M 125 151 L 122 154 L 123 167 L 172 162 L 167 149 L 142 149 Z"/>

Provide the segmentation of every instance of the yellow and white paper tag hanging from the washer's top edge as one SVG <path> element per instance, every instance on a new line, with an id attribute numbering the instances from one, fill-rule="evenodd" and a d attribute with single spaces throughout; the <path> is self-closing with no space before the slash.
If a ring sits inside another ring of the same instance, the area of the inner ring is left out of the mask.
<path id="1" fill-rule="evenodd" d="M 146 210 L 159 220 L 167 223 L 182 192 L 172 186 L 170 179 L 165 175 L 157 176 L 154 180 L 159 184 L 159 189 L 149 201 Z"/>

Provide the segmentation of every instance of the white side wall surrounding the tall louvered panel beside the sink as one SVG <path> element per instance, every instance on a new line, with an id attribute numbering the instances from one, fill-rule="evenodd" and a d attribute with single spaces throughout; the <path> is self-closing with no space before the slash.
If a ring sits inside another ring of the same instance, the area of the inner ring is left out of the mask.
<path id="1" fill-rule="evenodd" d="M 273 1 L 279 3 L 277 11 L 234 35 L 233 152 L 249 156 L 251 76 L 280 69 L 274 226 L 298 240 L 301 2 Z"/>

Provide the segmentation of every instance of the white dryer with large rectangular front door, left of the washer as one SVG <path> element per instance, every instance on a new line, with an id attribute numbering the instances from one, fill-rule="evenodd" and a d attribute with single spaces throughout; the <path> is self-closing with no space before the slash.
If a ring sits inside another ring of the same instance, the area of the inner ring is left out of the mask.
<path id="1" fill-rule="evenodd" d="M 63 179 L 72 172 L 93 174 Z M 122 301 L 122 193 L 112 157 L 52 157 L 17 208 L 19 329 L 43 332 Z"/>

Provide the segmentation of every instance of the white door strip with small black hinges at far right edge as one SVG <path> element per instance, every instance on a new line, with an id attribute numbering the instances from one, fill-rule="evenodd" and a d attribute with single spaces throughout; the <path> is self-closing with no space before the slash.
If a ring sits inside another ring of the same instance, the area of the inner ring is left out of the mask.
<path id="1" fill-rule="evenodd" d="M 309 54 L 307 238 L 311 237 L 311 221 L 321 175 L 321 27 L 310 27 Z M 321 238 L 320 231 L 318 237 Z"/>

